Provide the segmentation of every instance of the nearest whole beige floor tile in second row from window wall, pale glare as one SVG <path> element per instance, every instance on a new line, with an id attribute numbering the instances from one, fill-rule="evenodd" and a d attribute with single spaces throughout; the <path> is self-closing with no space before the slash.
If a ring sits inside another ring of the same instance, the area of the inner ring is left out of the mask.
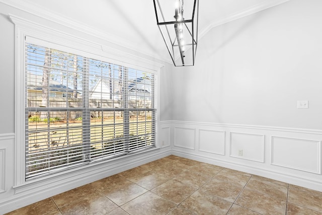
<path id="1" fill-rule="evenodd" d="M 103 193 L 118 206 L 121 206 L 147 191 L 131 181 L 125 181 L 113 187 L 108 187 Z"/>

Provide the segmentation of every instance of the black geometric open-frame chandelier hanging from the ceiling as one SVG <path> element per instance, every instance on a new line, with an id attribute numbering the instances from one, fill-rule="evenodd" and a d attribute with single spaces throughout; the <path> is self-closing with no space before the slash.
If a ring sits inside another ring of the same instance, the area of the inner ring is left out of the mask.
<path id="1" fill-rule="evenodd" d="M 199 0 L 153 0 L 157 26 L 175 66 L 195 64 Z"/>

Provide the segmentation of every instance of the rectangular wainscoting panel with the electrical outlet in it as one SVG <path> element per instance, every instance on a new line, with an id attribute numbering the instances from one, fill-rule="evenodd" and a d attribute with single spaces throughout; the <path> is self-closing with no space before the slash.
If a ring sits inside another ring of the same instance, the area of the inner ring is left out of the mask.
<path id="1" fill-rule="evenodd" d="M 230 157 L 264 162 L 264 135 L 230 132 Z"/>

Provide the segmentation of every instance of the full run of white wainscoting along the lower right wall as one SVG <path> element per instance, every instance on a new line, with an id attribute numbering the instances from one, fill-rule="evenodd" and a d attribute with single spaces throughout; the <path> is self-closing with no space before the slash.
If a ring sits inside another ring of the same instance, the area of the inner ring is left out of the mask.
<path id="1" fill-rule="evenodd" d="M 175 120 L 163 126 L 173 131 L 173 155 L 322 191 L 322 130 Z"/>

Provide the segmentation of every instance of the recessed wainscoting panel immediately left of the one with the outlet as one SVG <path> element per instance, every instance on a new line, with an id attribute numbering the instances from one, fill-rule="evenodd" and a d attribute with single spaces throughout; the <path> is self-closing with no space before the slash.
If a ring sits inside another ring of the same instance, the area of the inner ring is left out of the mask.
<path id="1" fill-rule="evenodd" d="M 199 151 L 225 155 L 225 131 L 199 129 Z"/>

